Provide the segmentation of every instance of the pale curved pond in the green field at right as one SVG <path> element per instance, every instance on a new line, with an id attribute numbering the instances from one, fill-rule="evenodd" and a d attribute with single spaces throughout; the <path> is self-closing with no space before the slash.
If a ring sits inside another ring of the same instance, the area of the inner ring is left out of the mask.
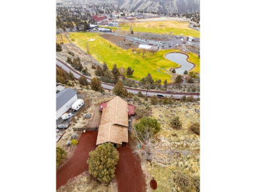
<path id="1" fill-rule="evenodd" d="M 188 56 L 186 56 L 186 54 L 182 54 L 179 52 L 171 52 L 171 53 L 166 54 L 165 58 L 167 58 L 168 60 L 175 62 L 181 66 L 179 68 L 175 68 L 176 74 L 183 75 L 184 71 L 186 71 L 186 70 L 189 71 L 190 69 L 192 69 L 194 67 L 193 64 L 191 64 L 190 62 L 188 62 L 186 60 L 186 58 L 188 58 Z"/>

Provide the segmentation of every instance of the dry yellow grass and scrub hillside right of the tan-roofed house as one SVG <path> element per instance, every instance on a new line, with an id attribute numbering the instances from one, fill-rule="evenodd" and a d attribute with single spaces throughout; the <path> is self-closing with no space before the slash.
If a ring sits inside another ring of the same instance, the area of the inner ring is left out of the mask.
<path id="1" fill-rule="evenodd" d="M 172 188 L 180 191 L 173 182 L 175 170 L 181 170 L 189 176 L 191 183 L 194 176 L 200 176 L 200 136 L 189 130 L 192 122 L 200 121 L 200 115 L 194 111 L 194 109 L 200 109 L 200 106 L 190 104 L 190 108 L 188 109 L 184 104 L 181 107 L 169 107 L 169 109 L 165 106 L 152 108 L 152 116 L 161 123 L 161 131 L 155 144 L 156 149 L 153 150 L 157 158 L 151 165 L 147 163 L 148 172 L 158 182 L 156 191 L 171 191 Z M 179 115 L 182 121 L 180 130 L 174 130 L 169 124 L 170 119 L 175 115 Z M 189 191 L 196 191 L 193 184 Z"/>

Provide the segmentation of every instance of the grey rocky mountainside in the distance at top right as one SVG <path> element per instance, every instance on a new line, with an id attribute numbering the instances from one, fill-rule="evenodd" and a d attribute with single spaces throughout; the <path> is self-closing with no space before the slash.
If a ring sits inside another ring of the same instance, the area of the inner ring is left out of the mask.
<path id="1" fill-rule="evenodd" d="M 200 12 L 199 0 L 118 0 L 118 7 L 129 11 L 160 13 Z"/>

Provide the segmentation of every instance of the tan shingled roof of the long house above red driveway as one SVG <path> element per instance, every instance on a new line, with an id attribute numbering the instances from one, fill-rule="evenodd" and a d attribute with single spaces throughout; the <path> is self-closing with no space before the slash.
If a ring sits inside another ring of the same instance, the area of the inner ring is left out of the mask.
<path id="1" fill-rule="evenodd" d="M 111 142 L 121 147 L 128 142 L 128 103 L 116 96 L 102 111 L 96 145 Z"/>

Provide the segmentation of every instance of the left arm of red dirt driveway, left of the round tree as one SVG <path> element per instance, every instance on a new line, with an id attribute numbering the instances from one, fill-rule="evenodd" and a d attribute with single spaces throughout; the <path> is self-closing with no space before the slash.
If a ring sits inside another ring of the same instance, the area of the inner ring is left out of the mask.
<path id="1" fill-rule="evenodd" d="M 97 131 L 87 131 L 82 133 L 75 152 L 64 166 L 56 172 L 56 189 L 66 184 L 68 180 L 89 170 L 89 164 L 86 163 L 89 152 L 96 148 Z"/>

